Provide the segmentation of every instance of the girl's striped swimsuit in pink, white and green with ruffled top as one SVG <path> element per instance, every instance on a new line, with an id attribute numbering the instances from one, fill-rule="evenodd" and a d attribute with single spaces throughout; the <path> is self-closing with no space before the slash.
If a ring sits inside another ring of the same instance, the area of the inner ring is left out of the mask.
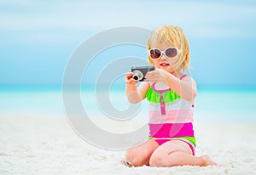
<path id="1" fill-rule="evenodd" d="M 180 77 L 182 80 L 183 75 Z M 149 101 L 149 138 L 158 144 L 177 139 L 189 144 L 195 155 L 195 136 L 193 130 L 193 107 L 164 83 L 154 82 L 146 98 Z"/>

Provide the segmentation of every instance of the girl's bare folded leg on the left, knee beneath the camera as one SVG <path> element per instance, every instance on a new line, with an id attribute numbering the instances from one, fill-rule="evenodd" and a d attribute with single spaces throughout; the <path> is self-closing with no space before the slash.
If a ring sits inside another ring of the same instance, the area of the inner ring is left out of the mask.
<path id="1" fill-rule="evenodd" d="M 150 156 L 157 147 L 159 144 L 154 139 L 150 139 L 144 144 L 126 150 L 125 160 L 134 167 L 149 165 Z"/>

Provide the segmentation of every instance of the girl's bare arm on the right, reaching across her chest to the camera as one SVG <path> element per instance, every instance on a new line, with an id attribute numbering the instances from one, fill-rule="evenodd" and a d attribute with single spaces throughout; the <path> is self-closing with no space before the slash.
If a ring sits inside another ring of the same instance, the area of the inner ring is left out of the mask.
<path id="1" fill-rule="evenodd" d="M 172 88 L 175 93 L 180 95 L 183 99 L 188 100 L 191 104 L 194 104 L 196 96 L 196 82 L 192 77 L 185 76 L 183 80 L 180 80 L 167 71 L 160 69 L 148 72 L 146 77 L 152 82 L 165 82 L 165 84 L 169 88 Z"/>

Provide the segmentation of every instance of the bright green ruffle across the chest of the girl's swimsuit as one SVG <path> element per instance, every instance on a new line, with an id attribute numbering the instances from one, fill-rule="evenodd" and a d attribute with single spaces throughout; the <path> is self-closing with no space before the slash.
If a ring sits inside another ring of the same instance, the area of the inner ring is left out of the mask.
<path id="1" fill-rule="evenodd" d="M 177 95 L 177 93 L 174 93 L 172 90 L 166 91 L 163 93 L 164 96 L 164 102 L 173 102 L 176 99 L 180 99 L 180 96 Z M 146 93 L 146 98 L 149 102 L 153 102 L 155 104 L 159 104 L 160 101 L 160 93 L 154 92 L 153 88 L 148 88 L 148 91 Z"/>

